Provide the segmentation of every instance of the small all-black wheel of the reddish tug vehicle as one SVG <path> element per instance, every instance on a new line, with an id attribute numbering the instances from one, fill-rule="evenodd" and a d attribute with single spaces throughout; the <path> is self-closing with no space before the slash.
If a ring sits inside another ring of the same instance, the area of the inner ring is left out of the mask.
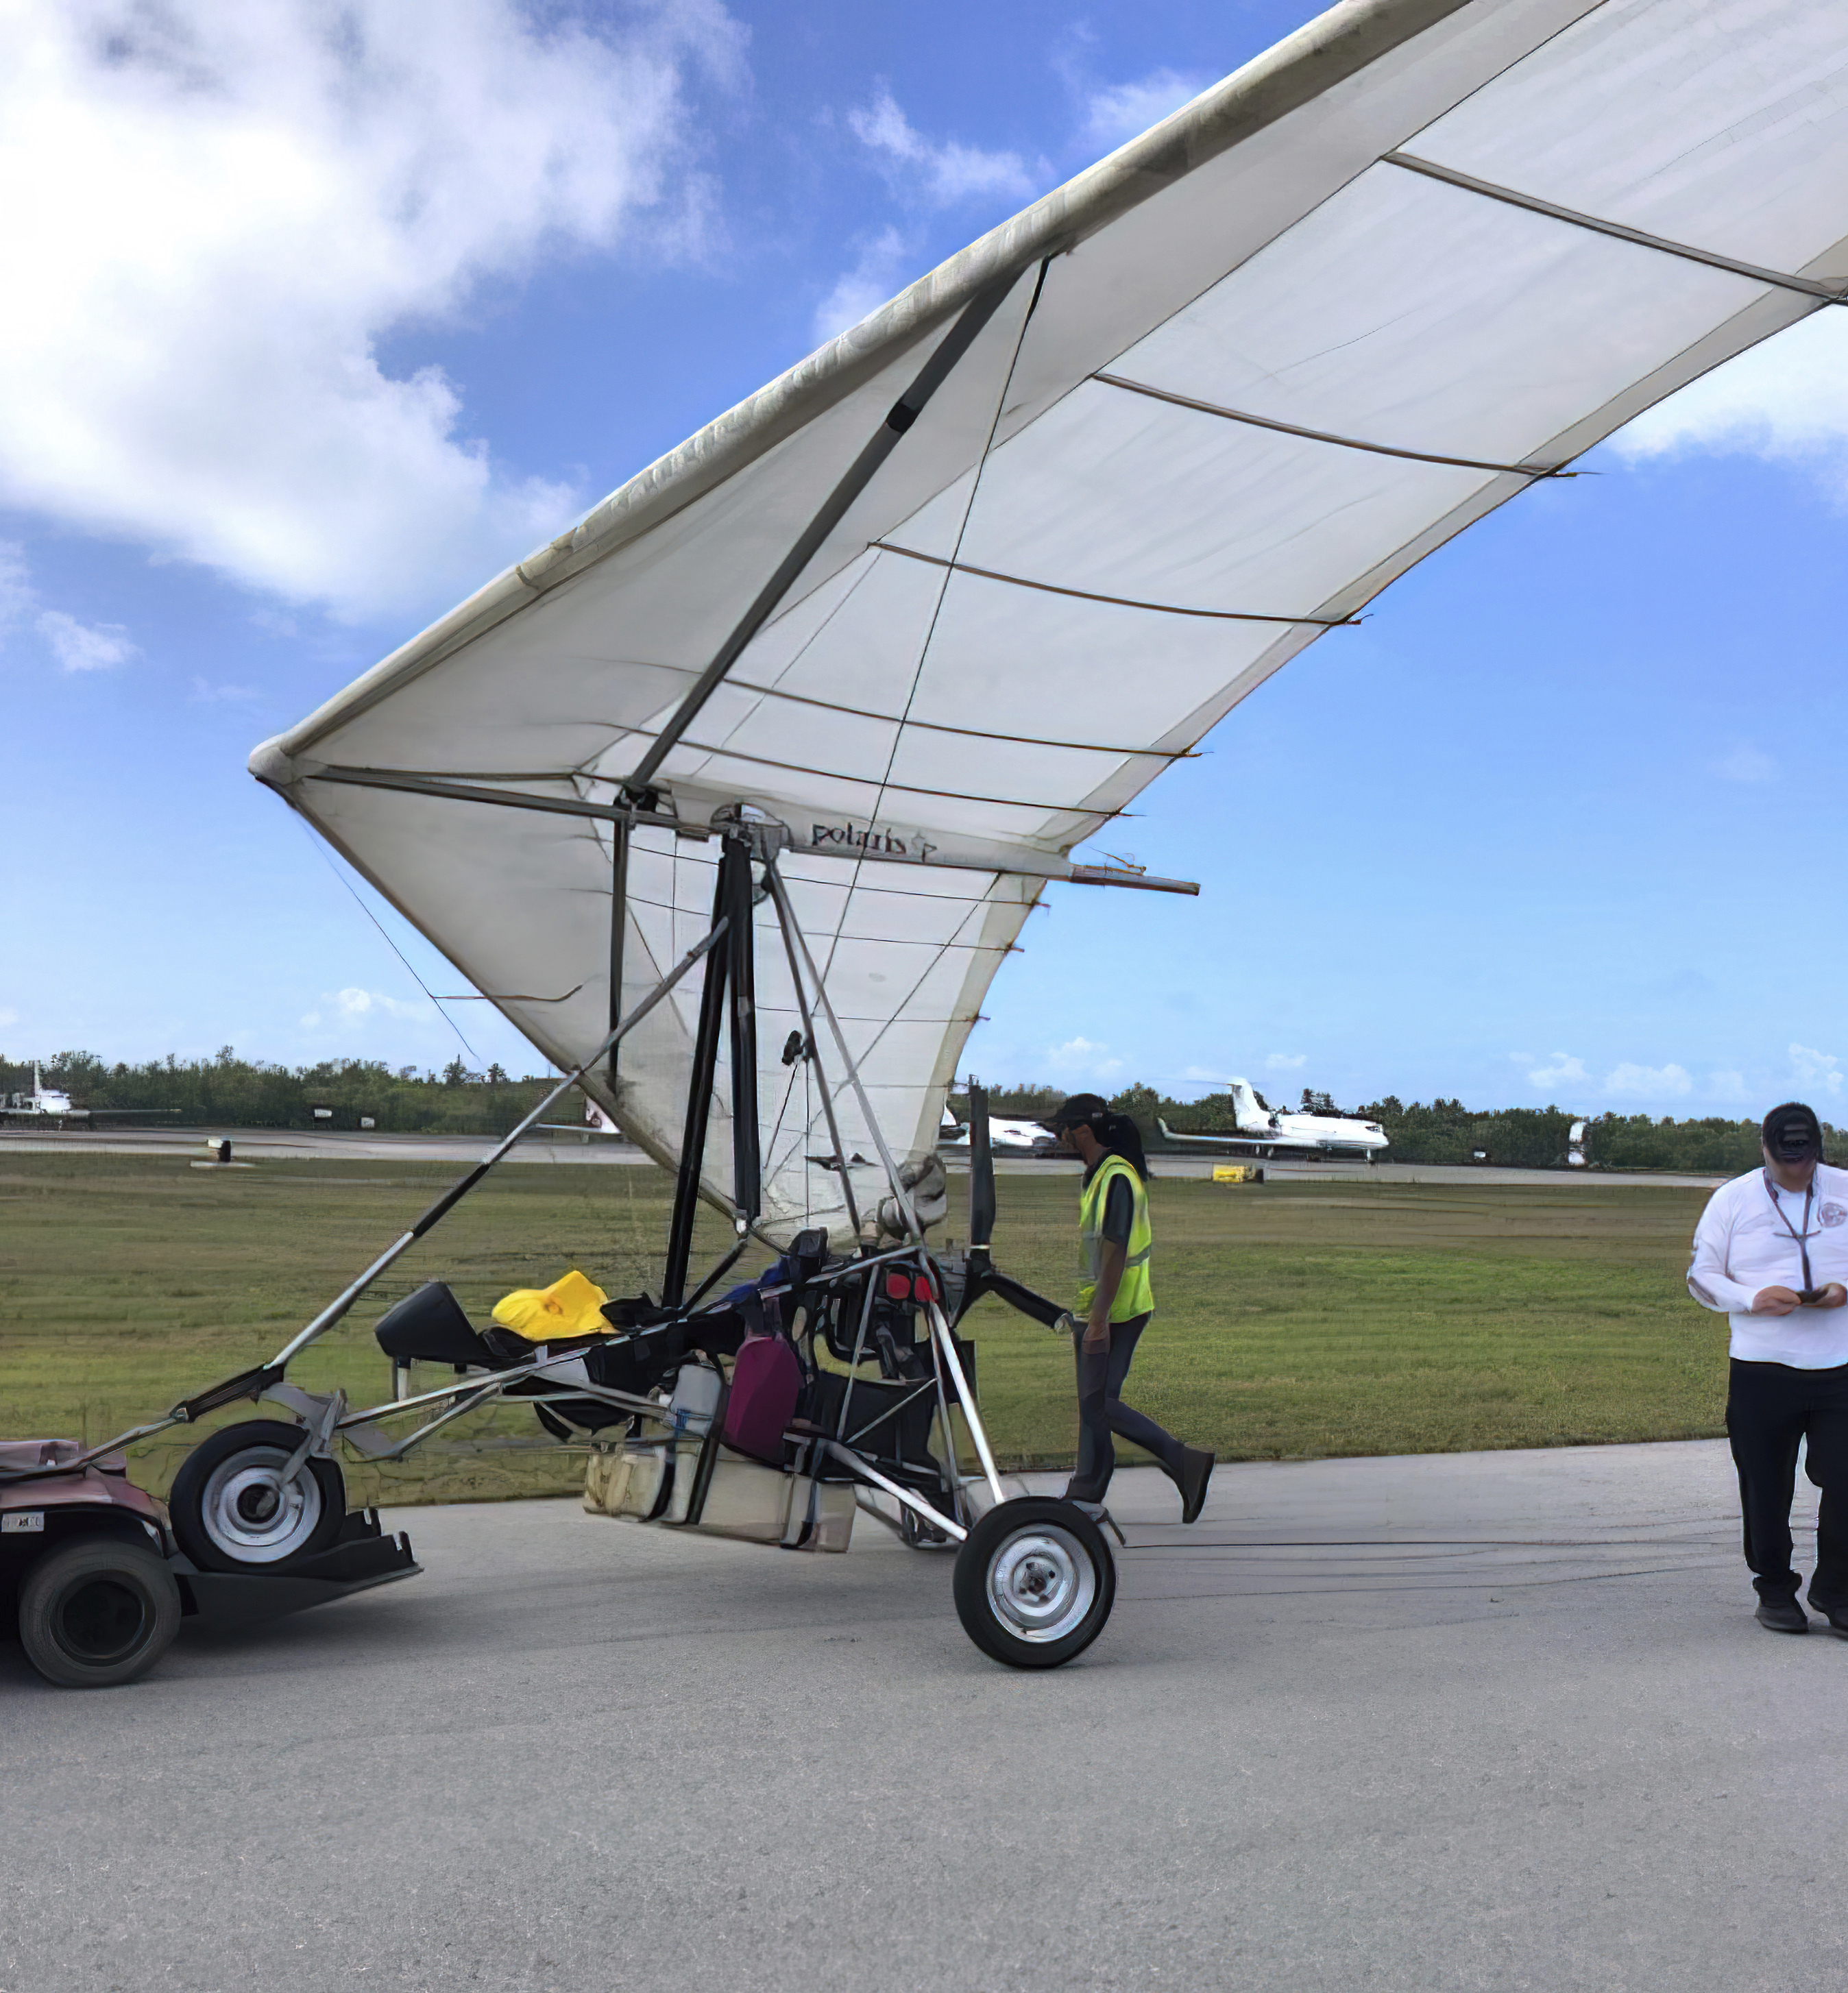
<path id="1" fill-rule="evenodd" d="M 20 1584 L 20 1642 L 58 1688 L 120 1688 L 179 1630 L 179 1586 L 146 1545 L 82 1537 L 46 1551 Z"/>

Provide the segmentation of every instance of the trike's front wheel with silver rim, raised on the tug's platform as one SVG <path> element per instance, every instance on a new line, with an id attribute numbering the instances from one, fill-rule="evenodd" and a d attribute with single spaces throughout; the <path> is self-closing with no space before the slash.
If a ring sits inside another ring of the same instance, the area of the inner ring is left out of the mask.
<path id="1" fill-rule="evenodd" d="M 275 1501 L 273 1477 L 303 1429 L 249 1419 L 201 1439 L 173 1475 L 167 1517 L 201 1570 L 289 1570 L 317 1557 L 347 1519 L 347 1483 L 333 1461 L 309 1459 Z M 273 1507 L 265 1509 L 265 1497 Z"/>

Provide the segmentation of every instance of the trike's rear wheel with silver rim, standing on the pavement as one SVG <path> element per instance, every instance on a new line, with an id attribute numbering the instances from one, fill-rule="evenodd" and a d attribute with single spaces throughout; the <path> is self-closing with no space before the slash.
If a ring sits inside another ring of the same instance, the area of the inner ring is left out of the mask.
<path id="1" fill-rule="evenodd" d="M 1075 1503 L 1029 1495 L 991 1509 L 957 1551 L 963 1632 L 1009 1668 L 1059 1668 L 1104 1630 L 1116 1561 Z"/>

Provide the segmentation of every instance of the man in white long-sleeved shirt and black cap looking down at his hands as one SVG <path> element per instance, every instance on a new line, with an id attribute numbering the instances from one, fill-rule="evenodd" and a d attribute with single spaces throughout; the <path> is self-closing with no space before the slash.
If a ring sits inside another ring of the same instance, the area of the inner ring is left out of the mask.
<path id="1" fill-rule="evenodd" d="M 1689 1293 L 1732 1321 L 1726 1433 L 1758 1624 L 1808 1632 L 1790 1568 L 1796 1449 L 1822 1489 L 1810 1604 L 1848 1638 L 1848 1170 L 1822 1162 L 1800 1100 L 1764 1116 L 1764 1168 L 1722 1184 L 1694 1228 Z"/>

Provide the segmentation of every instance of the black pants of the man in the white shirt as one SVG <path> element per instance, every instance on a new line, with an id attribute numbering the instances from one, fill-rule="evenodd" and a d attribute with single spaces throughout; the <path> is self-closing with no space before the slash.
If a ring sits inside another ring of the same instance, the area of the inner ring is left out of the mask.
<path id="1" fill-rule="evenodd" d="M 1738 1467 L 1744 1553 L 1760 1598 L 1792 1598 L 1790 1499 L 1796 1443 L 1810 1441 L 1804 1473 L 1822 1489 L 1810 1604 L 1848 1604 L 1848 1363 L 1800 1371 L 1788 1363 L 1732 1361 L 1726 1433 Z"/>

